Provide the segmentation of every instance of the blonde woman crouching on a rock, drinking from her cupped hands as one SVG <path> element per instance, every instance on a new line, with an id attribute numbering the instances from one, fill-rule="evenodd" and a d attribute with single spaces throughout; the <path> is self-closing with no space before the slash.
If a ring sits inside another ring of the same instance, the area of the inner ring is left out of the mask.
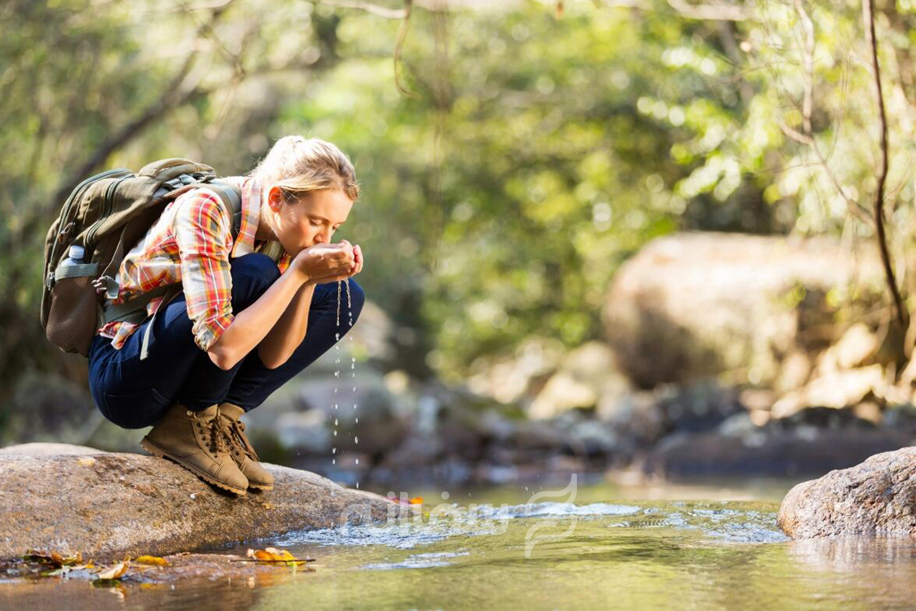
<path id="1" fill-rule="evenodd" d="M 90 388 L 108 420 L 153 425 L 140 443 L 148 452 L 245 495 L 271 489 L 273 477 L 239 417 L 348 331 L 337 326 L 339 280 L 349 283 L 354 322 L 362 310 L 363 290 L 351 279 L 363 269 L 362 250 L 331 243 L 359 187 L 344 153 L 300 136 L 281 138 L 247 176 L 224 181 L 242 194 L 237 238 L 231 213 L 202 187 L 170 202 L 125 256 L 112 305 L 163 285 L 183 290 L 150 300 L 142 323 L 99 329 Z M 261 252 L 271 247 L 282 251 L 277 261 Z"/>

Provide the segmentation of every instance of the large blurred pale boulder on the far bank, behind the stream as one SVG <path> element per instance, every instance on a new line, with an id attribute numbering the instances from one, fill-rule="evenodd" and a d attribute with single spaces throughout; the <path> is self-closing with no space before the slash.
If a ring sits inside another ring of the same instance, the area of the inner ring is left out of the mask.
<path id="1" fill-rule="evenodd" d="M 827 238 L 671 235 L 616 273 L 605 334 L 639 387 L 724 372 L 769 387 L 787 355 L 813 354 L 839 339 L 823 330 L 842 331 L 834 314 L 850 301 L 851 284 L 857 307 L 867 307 L 883 299 L 882 282 L 872 249 L 854 252 Z M 865 358 L 852 352 L 853 360 Z"/>

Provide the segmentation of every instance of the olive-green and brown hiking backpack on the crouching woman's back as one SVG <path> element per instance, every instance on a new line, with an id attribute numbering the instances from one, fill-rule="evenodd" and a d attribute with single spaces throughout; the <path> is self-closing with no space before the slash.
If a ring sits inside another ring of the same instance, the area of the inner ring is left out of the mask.
<path id="1" fill-rule="evenodd" d="M 88 356 L 95 332 L 104 323 L 142 321 L 149 300 L 158 295 L 168 300 L 169 293 L 174 297 L 180 291 L 180 283 L 159 287 L 122 305 L 104 308 L 104 300 L 117 297 L 114 276 L 125 246 L 129 252 L 156 223 L 166 204 L 181 194 L 202 186 L 213 189 L 232 216 L 234 240 L 241 228 L 241 193 L 215 179 L 210 166 L 172 158 L 154 161 L 136 173 L 110 169 L 77 185 L 45 238 L 41 326 L 49 341 L 64 352 Z M 60 266 L 71 245 L 84 248 L 82 264 Z"/>

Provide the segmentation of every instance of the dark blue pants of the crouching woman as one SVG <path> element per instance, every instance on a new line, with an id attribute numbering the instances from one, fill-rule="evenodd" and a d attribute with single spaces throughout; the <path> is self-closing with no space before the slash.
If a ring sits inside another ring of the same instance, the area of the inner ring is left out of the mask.
<path id="1" fill-rule="evenodd" d="M 277 264 L 260 253 L 230 259 L 232 309 L 237 314 L 252 305 L 280 276 Z M 353 322 L 365 299 L 363 289 L 349 279 Z M 248 411 L 270 393 L 311 365 L 336 344 L 335 334 L 350 330 L 346 287 L 341 287 L 340 327 L 337 327 L 337 283 L 319 284 L 311 300 L 309 327 L 289 360 L 268 369 L 252 350 L 232 369 L 223 370 L 194 344 L 184 293 L 158 312 L 149 338 L 147 358 L 140 344 L 149 319 L 116 350 L 111 339 L 96 335 L 89 354 L 89 387 L 105 418 L 125 429 L 140 429 L 160 420 L 172 403 L 207 409 L 228 401 Z"/>

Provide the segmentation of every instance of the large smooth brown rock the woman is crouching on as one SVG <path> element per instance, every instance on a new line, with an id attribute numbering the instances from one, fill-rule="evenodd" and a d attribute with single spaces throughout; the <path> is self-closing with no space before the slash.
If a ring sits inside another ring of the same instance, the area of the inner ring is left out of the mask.
<path id="1" fill-rule="evenodd" d="M 0 560 L 30 549 L 81 551 L 98 562 L 164 556 L 289 530 L 377 521 L 387 517 L 389 505 L 382 496 L 273 464 L 267 468 L 274 490 L 237 498 L 151 456 L 6 450 L 0 456 Z"/>

